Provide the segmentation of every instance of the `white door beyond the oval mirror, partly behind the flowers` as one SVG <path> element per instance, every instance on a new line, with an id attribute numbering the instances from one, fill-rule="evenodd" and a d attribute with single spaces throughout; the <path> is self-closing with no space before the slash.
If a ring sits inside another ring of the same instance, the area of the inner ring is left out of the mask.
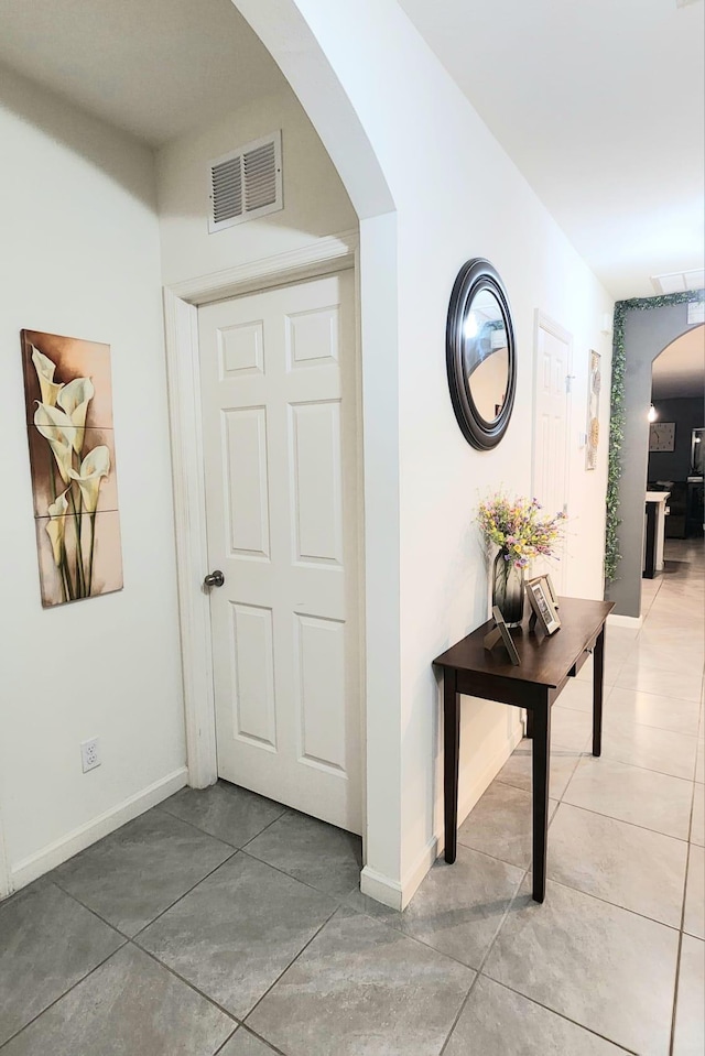
<path id="1" fill-rule="evenodd" d="M 533 494 L 546 514 L 567 513 L 571 335 L 540 316 L 535 352 Z M 557 556 L 557 564 L 536 563 L 532 571 L 549 571 L 556 589 L 565 592 L 565 545 Z"/>

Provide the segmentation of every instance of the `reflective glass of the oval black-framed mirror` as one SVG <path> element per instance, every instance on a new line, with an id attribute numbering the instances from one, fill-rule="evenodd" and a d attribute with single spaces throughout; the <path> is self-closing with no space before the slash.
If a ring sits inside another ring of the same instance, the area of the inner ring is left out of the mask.
<path id="1" fill-rule="evenodd" d="M 495 422 L 501 414 L 509 382 L 507 328 L 499 301 L 480 290 L 468 305 L 463 325 L 463 372 L 481 417 Z"/>

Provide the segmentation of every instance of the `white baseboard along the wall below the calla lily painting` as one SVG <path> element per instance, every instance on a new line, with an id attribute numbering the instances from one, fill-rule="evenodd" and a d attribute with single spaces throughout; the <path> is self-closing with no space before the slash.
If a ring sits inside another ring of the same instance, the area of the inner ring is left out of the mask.
<path id="1" fill-rule="evenodd" d="M 166 777 L 161 777 L 159 781 L 155 781 L 154 784 L 149 785 L 149 787 L 135 793 L 128 799 L 123 799 L 117 807 L 106 810 L 105 814 L 79 826 L 77 829 L 74 829 L 73 832 L 68 832 L 67 836 L 62 837 L 62 839 L 50 843 L 47 847 L 43 847 L 41 851 L 37 851 L 35 854 L 30 854 L 29 858 L 18 862 L 18 864 L 10 870 L 11 890 L 17 891 L 19 888 L 24 888 L 26 884 L 32 883 L 33 880 L 43 877 L 44 873 L 51 869 L 55 869 L 57 866 L 61 866 L 62 862 L 73 858 L 78 851 L 90 847 L 96 840 L 102 839 L 104 836 L 108 836 L 110 832 L 115 832 L 115 830 L 119 829 L 126 821 L 131 821 L 132 818 L 144 814 L 145 810 L 156 806 L 158 803 L 162 803 L 163 799 L 166 799 L 175 792 L 178 792 L 180 788 L 183 788 L 187 782 L 187 777 L 188 771 L 185 766 L 182 766 L 180 770 L 167 774 Z"/>

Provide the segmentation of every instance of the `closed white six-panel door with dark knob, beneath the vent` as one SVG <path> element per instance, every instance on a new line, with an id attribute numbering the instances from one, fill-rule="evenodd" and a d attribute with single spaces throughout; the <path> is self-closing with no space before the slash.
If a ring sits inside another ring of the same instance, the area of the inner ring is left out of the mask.
<path id="1" fill-rule="evenodd" d="M 218 773 L 359 834 L 354 305 L 343 272 L 206 305 L 198 337 Z"/>

